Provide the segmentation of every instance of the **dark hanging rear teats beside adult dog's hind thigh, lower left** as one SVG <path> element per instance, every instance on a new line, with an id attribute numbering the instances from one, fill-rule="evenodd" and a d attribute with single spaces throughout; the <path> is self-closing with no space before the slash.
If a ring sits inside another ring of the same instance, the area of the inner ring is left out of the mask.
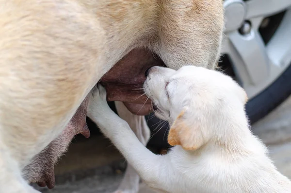
<path id="1" fill-rule="evenodd" d="M 32 163 L 24 168 L 24 178 L 30 182 L 37 182 L 41 187 L 48 186 L 52 189 L 55 185 L 54 165 L 67 150 L 73 137 L 82 134 L 90 137 L 90 131 L 86 124 L 88 96 L 81 103 L 75 115 L 65 127 L 58 138 L 32 159 Z"/>

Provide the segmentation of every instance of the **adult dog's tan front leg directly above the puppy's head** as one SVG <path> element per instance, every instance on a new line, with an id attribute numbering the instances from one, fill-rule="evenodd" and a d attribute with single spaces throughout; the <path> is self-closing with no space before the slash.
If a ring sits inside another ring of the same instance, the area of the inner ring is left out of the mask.
<path id="1" fill-rule="evenodd" d="M 167 67 L 213 69 L 224 28 L 223 0 L 168 0 L 162 3 L 156 53 Z"/>

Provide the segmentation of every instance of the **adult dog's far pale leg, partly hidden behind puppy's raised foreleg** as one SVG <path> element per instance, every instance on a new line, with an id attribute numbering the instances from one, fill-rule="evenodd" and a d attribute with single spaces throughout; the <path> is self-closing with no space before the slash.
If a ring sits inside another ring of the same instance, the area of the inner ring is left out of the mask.
<path id="1" fill-rule="evenodd" d="M 122 102 L 115 102 L 115 106 L 119 117 L 129 124 L 136 137 L 146 146 L 150 137 L 150 130 L 146 124 L 146 118 L 132 114 Z M 128 164 L 123 180 L 115 193 L 138 193 L 139 180 L 139 175 Z"/>

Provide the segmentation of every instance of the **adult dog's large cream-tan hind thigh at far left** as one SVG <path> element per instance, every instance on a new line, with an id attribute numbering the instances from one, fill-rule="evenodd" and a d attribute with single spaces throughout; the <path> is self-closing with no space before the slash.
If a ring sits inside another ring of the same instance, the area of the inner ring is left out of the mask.
<path id="1" fill-rule="evenodd" d="M 0 5 L 0 151 L 5 145 L 11 158 L 6 162 L 15 160 L 12 171 L 19 170 L 6 177 L 2 171 L 10 169 L 0 164 L 0 186 L 10 187 L 0 193 L 14 193 L 20 186 L 7 180 L 20 180 L 18 174 L 62 133 L 107 69 L 99 57 L 103 30 L 78 2 L 0 0 Z"/>

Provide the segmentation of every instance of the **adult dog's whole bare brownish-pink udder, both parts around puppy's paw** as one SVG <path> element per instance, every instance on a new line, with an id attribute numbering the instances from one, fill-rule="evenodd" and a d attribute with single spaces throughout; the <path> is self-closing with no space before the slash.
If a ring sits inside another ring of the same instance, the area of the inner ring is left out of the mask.
<path id="1" fill-rule="evenodd" d="M 153 66 L 164 66 L 164 64 L 145 49 L 131 51 L 100 81 L 106 88 L 107 100 L 124 102 L 129 111 L 134 114 L 149 114 L 152 109 L 151 101 L 146 101 L 142 87 L 146 80 L 146 69 Z M 54 165 L 58 158 L 64 155 L 73 137 L 77 134 L 82 134 L 86 138 L 90 137 L 90 131 L 86 125 L 87 105 L 88 96 L 60 136 L 51 141 L 32 159 L 32 163 L 24 168 L 25 179 L 36 182 L 41 187 L 48 186 L 49 189 L 54 187 Z"/>

